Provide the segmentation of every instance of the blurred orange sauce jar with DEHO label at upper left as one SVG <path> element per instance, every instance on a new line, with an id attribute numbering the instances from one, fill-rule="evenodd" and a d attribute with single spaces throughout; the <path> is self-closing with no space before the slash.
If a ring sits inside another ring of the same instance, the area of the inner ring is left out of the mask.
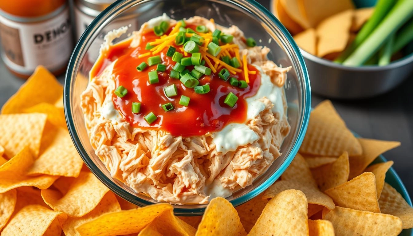
<path id="1" fill-rule="evenodd" d="M 1 57 L 28 78 L 38 65 L 62 74 L 73 50 L 66 0 L 0 0 Z"/>

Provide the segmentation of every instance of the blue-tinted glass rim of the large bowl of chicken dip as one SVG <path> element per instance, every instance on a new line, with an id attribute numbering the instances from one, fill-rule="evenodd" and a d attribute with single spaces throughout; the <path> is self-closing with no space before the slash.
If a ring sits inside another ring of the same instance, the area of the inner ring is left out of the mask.
<path id="1" fill-rule="evenodd" d="M 64 111 L 65 111 L 65 118 L 66 118 L 66 124 L 69 129 L 69 133 L 71 136 L 71 139 L 76 146 L 76 149 L 78 150 L 78 153 L 81 155 L 83 161 L 85 164 L 88 166 L 90 171 L 104 184 L 106 185 L 112 192 L 116 193 L 116 195 L 121 196 L 125 200 L 136 204 L 136 201 L 140 202 L 140 206 L 143 205 L 152 205 L 154 203 L 146 201 L 142 198 L 139 198 L 137 196 L 133 196 L 130 193 L 128 193 L 125 189 L 121 188 L 120 186 L 117 186 L 116 184 L 113 183 L 113 181 L 107 179 L 107 176 L 95 165 L 95 163 L 92 161 L 92 159 L 88 156 L 86 153 L 85 149 L 83 148 L 83 145 L 81 144 L 81 141 L 76 133 L 76 129 L 74 128 L 74 122 L 71 119 L 72 117 L 72 112 L 70 109 L 70 85 L 71 85 L 71 77 L 73 76 L 72 72 L 74 72 L 74 69 L 76 68 L 76 58 L 78 57 L 78 54 L 81 52 L 83 49 L 83 44 L 85 43 L 86 39 L 88 38 L 88 35 L 92 33 L 92 29 L 97 23 L 102 21 L 102 17 L 104 17 L 107 13 L 112 12 L 114 9 L 119 7 L 121 3 L 125 2 L 126 0 L 117 0 L 116 2 L 112 3 L 109 7 L 107 7 L 105 10 L 103 10 L 86 28 L 85 32 L 83 32 L 81 38 L 79 39 L 78 43 L 76 43 L 76 46 L 74 48 L 74 51 L 70 57 L 69 64 L 66 70 L 66 75 L 65 75 L 65 82 L 64 82 Z M 255 7 L 257 10 L 259 10 L 265 17 L 268 17 L 270 21 L 275 24 L 276 27 L 283 33 L 284 37 L 286 38 L 287 42 L 290 43 L 290 46 L 292 47 L 293 52 L 295 52 L 299 66 L 301 66 L 302 69 L 302 76 L 303 76 L 303 87 L 301 88 L 302 91 L 304 92 L 302 94 L 303 100 L 302 100 L 302 105 L 301 105 L 301 114 L 303 114 L 302 119 L 297 127 L 297 130 L 299 130 L 297 139 L 295 140 L 295 143 L 289 153 L 289 155 L 285 158 L 284 162 L 280 165 L 280 167 L 273 173 L 273 175 L 268 178 L 266 181 L 264 181 L 261 185 L 256 186 L 252 191 L 249 193 L 231 200 L 230 202 L 236 207 L 237 205 L 241 205 L 242 203 L 245 203 L 252 198 L 256 197 L 260 193 L 262 193 L 265 189 L 267 189 L 271 184 L 273 184 L 283 172 L 285 172 L 285 169 L 291 164 L 292 160 L 294 159 L 295 155 L 298 153 L 298 150 L 301 146 L 301 143 L 304 139 L 304 135 L 307 130 L 309 118 L 310 118 L 310 110 L 311 110 L 311 88 L 310 88 L 310 81 L 309 81 L 309 75 L 307 72 L 307 68 L 304 62 L 304 57 L 301 55 L 300 49 L 297 46 L 297 44 L 294 42 L 294 39 L 290 35 L 290 33 L 285 29 L 285 27 L 278 21 L 278 19 L 275 18 L 273 14 L 269 10 L 267 10 L 265 7 L 260 5 L 258 2 L 255 0 L 242 0 L 245 2 L 245 5 L 239 5 L 236 2 L 232 2 L 231 0 L 228 0 L 228 2 L 233 3 L 234 5 L 237 5 L 238 7 L 241 7 L 244 10 L 247 10 L 248 12 L 251 12 L 249 9 L 247 9 L 247 5 L 252 5 L 252 7 Z M 253 13 L 256 15 L 255 13 Z M 98 171 L 97 171 L 98 170 Z M 176 208 L 174 207 L 174 213 L 176 215 L 202 215 L 205 207 L 199 207 L 196 209 L 185 209 L 185 208 Z"/>

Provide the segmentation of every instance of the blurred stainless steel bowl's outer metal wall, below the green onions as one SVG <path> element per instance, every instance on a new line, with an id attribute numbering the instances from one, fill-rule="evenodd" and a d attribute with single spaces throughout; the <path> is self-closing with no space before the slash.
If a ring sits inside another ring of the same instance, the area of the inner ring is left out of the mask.
<path id="1" fill-rule="evenodd" d="M 346 67 L 300 50 L 306 62 L 311 91 L 336 99 L 370 98 L 398 86 L 413 72 L 413 55 L 387 66 Z"/>

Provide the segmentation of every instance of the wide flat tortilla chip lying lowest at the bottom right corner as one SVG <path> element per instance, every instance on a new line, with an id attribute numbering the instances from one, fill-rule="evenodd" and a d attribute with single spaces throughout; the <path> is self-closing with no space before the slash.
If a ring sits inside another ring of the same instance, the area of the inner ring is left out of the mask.
<path id="1" fill-rule="evenodd" d="M 323 215 L 333 224 L 336 236 L 398 235 L 403 229 L 401 219 L 382 213 L 335 207 Z"/>

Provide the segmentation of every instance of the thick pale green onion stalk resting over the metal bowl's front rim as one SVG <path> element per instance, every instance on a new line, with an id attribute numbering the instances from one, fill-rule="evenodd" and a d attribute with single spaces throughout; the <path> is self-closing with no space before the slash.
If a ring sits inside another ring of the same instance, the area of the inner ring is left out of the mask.
<path id="1" fill-rule="evenodd" d="M 413 1 L 397 1 L 389 14 L 387 14 L 383 21 L 370 33 L 366 40 L 344 60 L 343 64 L 346 66 L 362 65 L 412 16 Z"/>

